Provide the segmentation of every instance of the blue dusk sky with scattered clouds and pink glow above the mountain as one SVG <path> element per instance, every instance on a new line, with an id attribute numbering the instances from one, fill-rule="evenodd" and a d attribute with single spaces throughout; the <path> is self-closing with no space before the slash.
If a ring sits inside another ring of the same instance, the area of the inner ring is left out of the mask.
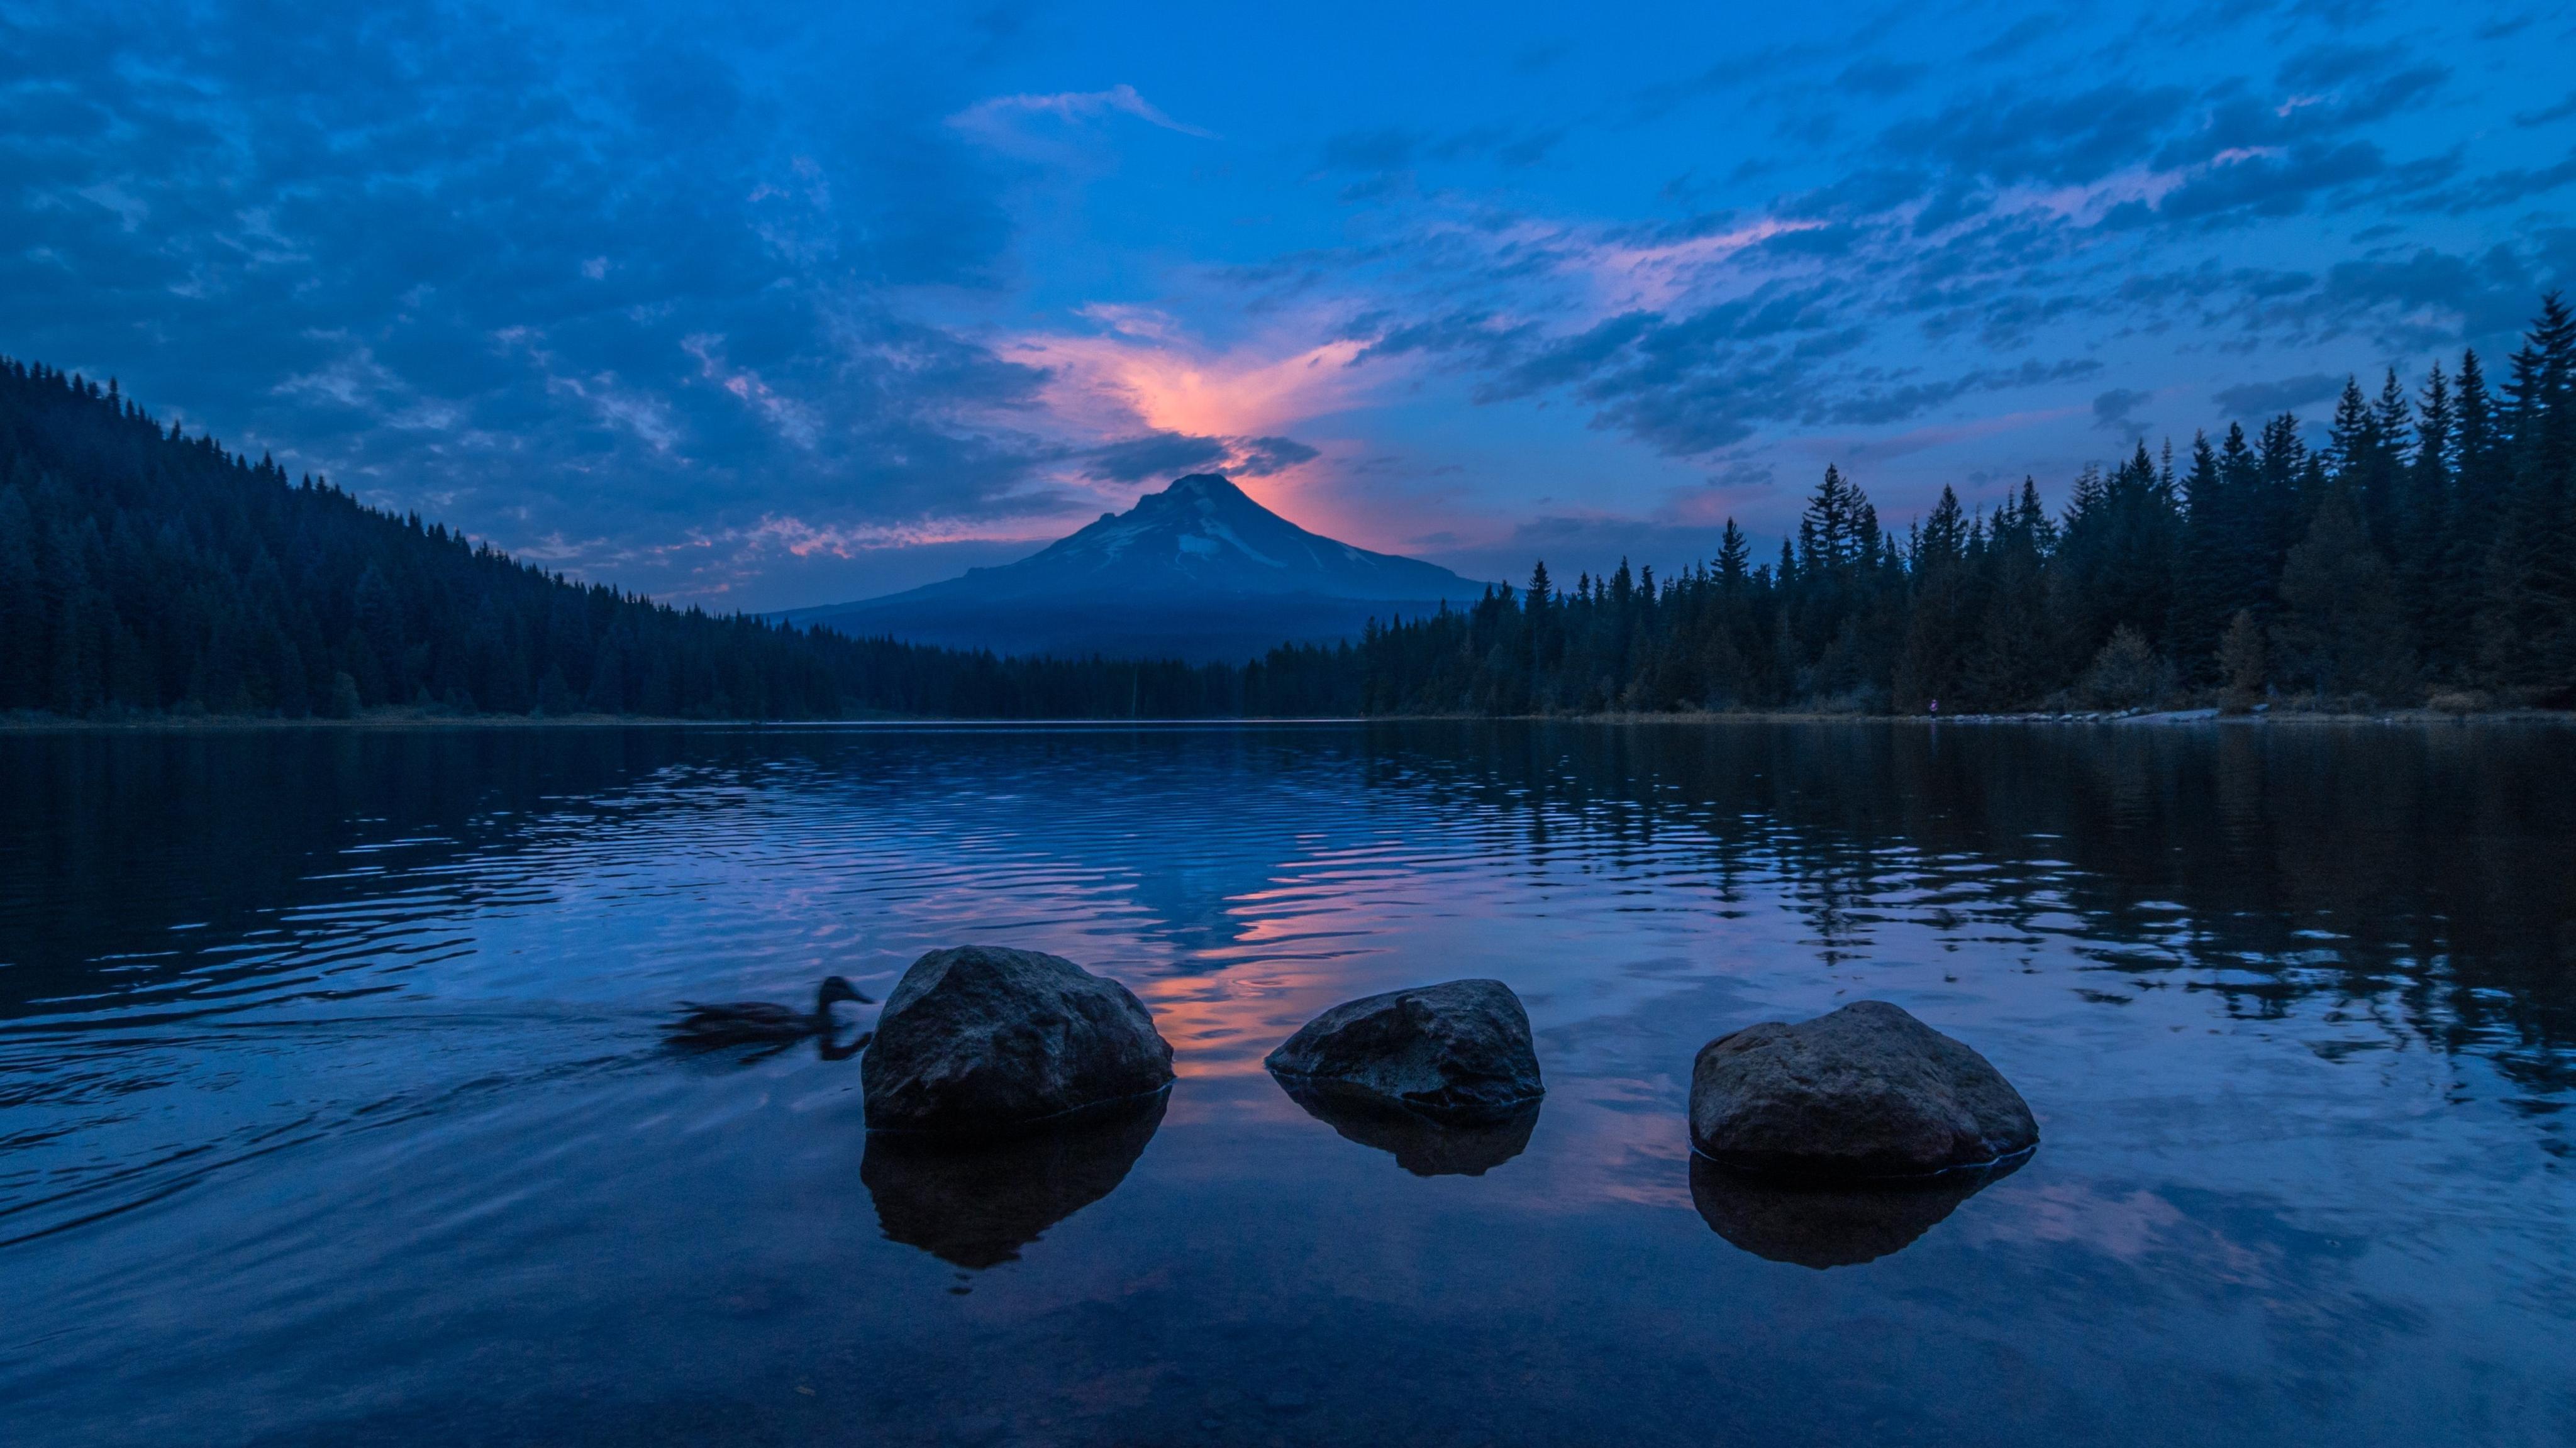
<path id="1" fill-rule="evenodd" d="M 1185 472 L 1517 580 L 2501 358 L 2576 8 L 0 0 L 0 353 L 711 608 Z"/>

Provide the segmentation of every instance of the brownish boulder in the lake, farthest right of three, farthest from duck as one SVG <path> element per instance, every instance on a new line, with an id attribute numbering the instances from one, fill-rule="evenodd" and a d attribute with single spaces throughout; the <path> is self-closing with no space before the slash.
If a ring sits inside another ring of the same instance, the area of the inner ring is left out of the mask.
<path id="1" fill-rule="evenodd" d="M 2038 1141 L 1986 1056 L 1883 1000 L 1718 1036 L 1690 1072 L 1690 1144 L 1741 1172 L 1922 1177 Z"/>

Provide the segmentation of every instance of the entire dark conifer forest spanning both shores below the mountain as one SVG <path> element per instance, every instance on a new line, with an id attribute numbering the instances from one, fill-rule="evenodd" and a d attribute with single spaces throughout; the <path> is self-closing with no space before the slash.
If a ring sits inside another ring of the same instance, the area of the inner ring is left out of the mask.
<path id="1" fill-rule="evenodd" d="M 1242 667 L 994 657 L 670 608 L 368 508 L 113 381 L 0 361 L 0 711 L 1203 719 L 2576 706 L 2576 317 L 2347 381 L 2318 446 L 2141 441 L 2056 513 L 1880 523 L 1829 466 L 1775 559 L 1494 587 Z"/>

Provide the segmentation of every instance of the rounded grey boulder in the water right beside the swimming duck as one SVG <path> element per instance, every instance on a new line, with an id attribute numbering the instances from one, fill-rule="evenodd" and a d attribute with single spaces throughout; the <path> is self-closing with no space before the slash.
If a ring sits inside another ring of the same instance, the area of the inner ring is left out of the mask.
<path id="1" fill-rule="evenodd" d="M 1113 979 L 961 946 L 912 961 L 858 1074 L 876 1131 L 1010 1136 L 1170 1087 L 1172 1046 Z"/>

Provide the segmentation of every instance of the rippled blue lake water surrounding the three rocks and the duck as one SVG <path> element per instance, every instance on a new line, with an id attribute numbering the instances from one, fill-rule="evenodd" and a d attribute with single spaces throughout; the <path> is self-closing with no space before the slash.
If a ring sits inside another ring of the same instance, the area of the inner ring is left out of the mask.
<path id="1" fill-rule="evenodd" d="M 1159 1121 L 920 1162 L 677 997 L 1126 979 Z M 1507 979 L 1535 1129 L 1306 1116 Z M 1692 1177 L 1692 1051 L 1896 1000 L 2043 1144 Z M 2576 732 L 0 737 L 0 1440 L 2571 1443 Z"/>

